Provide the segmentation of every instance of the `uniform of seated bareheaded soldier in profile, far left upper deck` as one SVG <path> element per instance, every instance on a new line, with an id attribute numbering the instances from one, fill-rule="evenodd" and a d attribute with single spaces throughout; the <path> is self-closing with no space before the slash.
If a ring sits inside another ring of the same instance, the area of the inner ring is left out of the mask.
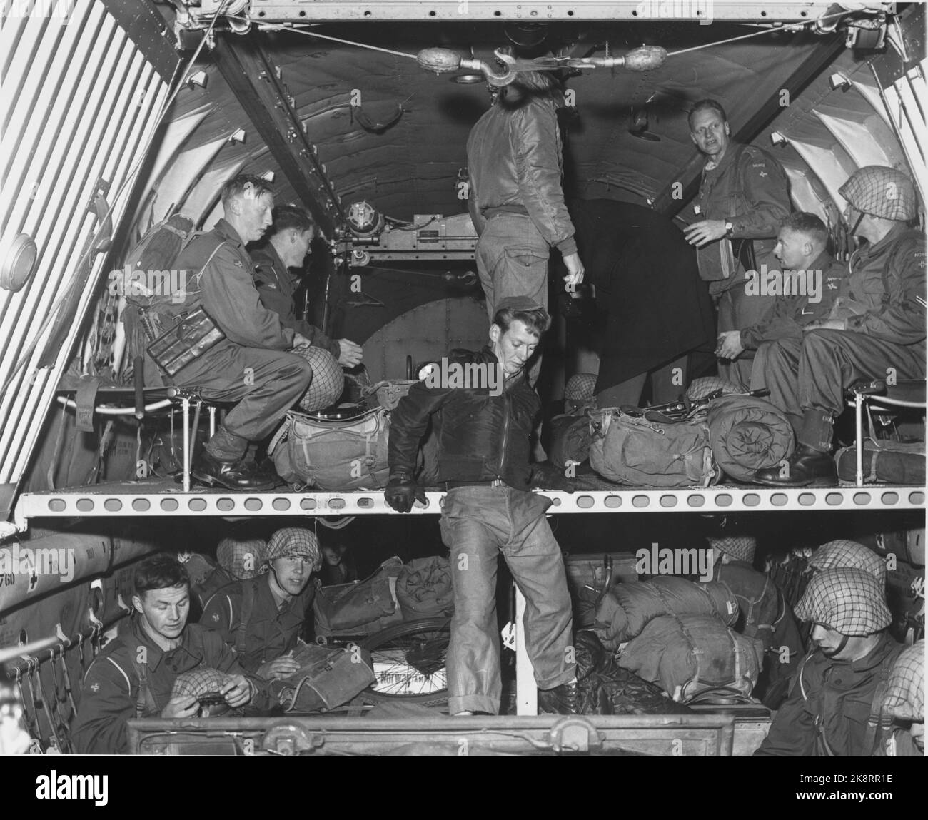
<path id="1" fill-rule="evenodd" d="M 199 279 L 195 278 L 206 260 Z M 293 329 L 261 303 L 251 278 L 251 257 L 225 219 L 194 239 L 175 264 L 187 271 L 187 294 L 171 311 L 179 314 L 202 305 L 226 339 L 181 369 L 174 383 L 199 389 L 207 400 L 238 403 L 206 445 L 214 458 L 237 461 L 248 442 L 261 441 L 273 432 L 306 391 L 313 369 L 300 356 L 285 352 L 293 346 Z M 149 359 L 149 384 L 155 383 L 155 373 Z"/>

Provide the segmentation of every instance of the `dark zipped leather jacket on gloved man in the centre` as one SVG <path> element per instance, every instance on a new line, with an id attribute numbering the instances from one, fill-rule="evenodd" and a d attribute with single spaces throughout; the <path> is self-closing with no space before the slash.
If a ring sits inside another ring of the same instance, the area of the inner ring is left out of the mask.
<path id="1" fill-rule="evenodd" d="M 449 366 L 499 366 L 488 347 L 481 352 L 452 351 L 446 361 Z M 439 481 L 502 479 L 510 487 L 527 489 L 529 436 L 541 402 L 523 374 L 509 379 L 499 395 L 490 393 L 489 387 L 414 384 L 391 415 L 390 477 L 412 478 L 419 441 L 432 417 Z"/>

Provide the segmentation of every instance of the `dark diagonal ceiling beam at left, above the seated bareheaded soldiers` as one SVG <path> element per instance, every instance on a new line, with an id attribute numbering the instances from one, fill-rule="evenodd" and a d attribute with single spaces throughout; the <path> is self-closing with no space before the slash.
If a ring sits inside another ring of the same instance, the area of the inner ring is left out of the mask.
<path id="1" fill-rule="evenodd" d="M 322 232 L 331 237 L 336 221 L 343 218 L 342 205 L 325 166 L 316 158 L 316 146 L 303 130 L 280 70 L 255 35 L 217 36 L 213 59 L 280 171 Z"/>

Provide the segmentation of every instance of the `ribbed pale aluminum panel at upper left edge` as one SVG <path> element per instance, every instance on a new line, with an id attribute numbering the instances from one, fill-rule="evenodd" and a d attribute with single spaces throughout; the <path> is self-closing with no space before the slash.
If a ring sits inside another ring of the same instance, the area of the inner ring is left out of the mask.
<path id="1" fill-rule="evenodd" d="M 7 16 L 4 131 L 0 137 L 0 253 L 19 233 L 38 246 L 32 280 L 0 290 L 0 482 L 18 482 L 41 420 L 97 288 L 80 294 L 54 367 L 36 370 L 55 311 L 82 274 L 97 228 L 88 211 L 97 181 L 118 223 L 167 87 L 98 0 L 71 4 L 66 20 Z M 90 282 L 105 277 L 105 254 Z"/>

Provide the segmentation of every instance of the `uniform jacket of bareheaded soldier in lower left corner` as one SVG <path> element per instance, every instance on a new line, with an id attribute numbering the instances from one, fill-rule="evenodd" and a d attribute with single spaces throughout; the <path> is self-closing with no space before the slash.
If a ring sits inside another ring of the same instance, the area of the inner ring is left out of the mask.
<path id="1" fill-rule="evenodd" d="M 141 649 L 145 649 L 141 653 Z M 144 664 L 140 655 L 144 654 Z M 138 664 L 138 665 L 136 665 Z M 171 699 L 174 679 L 181 673 L 210 667 L 228 674 L 246 674 L 255 686 L 251 707 L 269 709 L 271 701 L 261 678 L 245 673 L 235 652 L 219 634 L 188 623 L 180 646 L 165 652 L 134 618 L 126 634 L 111 641 L 84 676 L 84 688 L 71 728 L 74 748 L 82 754 L 122 754 L 128 750 L 126 721 L 159 717 Z M 139 670 L 147 685 L 141 685 Z"/>

